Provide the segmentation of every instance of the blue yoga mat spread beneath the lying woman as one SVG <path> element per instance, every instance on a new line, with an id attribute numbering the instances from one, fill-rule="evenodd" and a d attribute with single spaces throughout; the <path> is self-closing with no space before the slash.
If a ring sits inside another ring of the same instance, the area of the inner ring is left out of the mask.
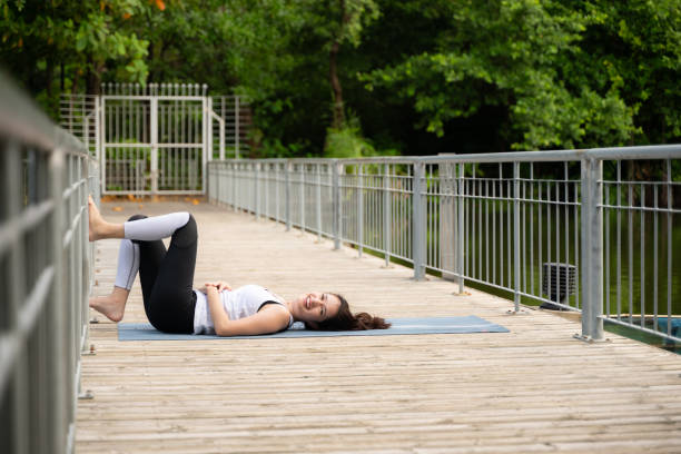
<path id="1" fill-rule="evenodd" d="M 461 334 L 461 333 L 509 333 L 475 315 L 467 317 L 391 318 L 388 329 L 323 332 L 297 328 L 259 336 L 220 337 L 215 335 L 166 334 L 148 323 L 119 323 L 118 340 L 207 340 L 207 339 L 253 339 L 273 337 L 335 337 L 335 336 L 389 336 L 405 334 Z M 302 324 L 297 324 L 302 326 Z"/>

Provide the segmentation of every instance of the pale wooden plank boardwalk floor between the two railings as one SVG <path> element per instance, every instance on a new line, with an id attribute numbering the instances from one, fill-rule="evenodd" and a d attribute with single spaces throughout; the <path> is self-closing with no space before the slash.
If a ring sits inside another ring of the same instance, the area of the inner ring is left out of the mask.
<path id="1" fill-rule="evenodd" d="M 119 209 L 119 210 L 115 210 Z M 120 209 L 122 208 L 122 209 Z M 78 453 L 680 453 L 681 356 L 609 335 L 332 241 L 207 204 L 105 204 L 124 220 L 191 210 L 196 283 L 258 283 L 284 297 L 344 294 L 388 317 L 477 315 L 507 334 L 118 342 L 91 326 Z M 110 290 L 117 241 L 100 241 L 95 292 Z M 146 322 L 139 284 L 124 322 Z"/>

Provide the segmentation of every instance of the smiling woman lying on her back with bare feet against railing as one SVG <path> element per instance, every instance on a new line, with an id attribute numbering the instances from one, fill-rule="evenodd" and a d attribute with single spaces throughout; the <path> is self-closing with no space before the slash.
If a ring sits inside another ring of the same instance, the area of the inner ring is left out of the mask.
<path id="1" fill-rule="evenodd" d="M 233 289 L 211 282 L 194 289 L 197 225 L 189 213 L 132 216 L 124 224 L 106 221 L 89 199 L 90 241 L 120 238 L 116 283 L 110 295 L 90 298 L 90 307 L 119 322 L 139 272 L 147 318 L 165 333 L 244 336 L 277 333 L 294 322 L 308 329 L 356 330 L 389 327 L 381 317 L 353 314 L 345 298 L 310 292 L 285 300 L 259 285 Z M 162 238 L 170 237 L 168 250 Z"/>

